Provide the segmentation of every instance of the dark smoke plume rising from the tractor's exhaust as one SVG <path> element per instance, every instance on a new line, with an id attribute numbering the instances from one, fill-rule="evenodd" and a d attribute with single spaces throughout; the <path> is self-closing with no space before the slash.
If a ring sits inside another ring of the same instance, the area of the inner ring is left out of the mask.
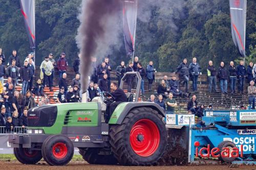
<path id="1" fill-rule="evenodd" d="M 85 92 L 91 76 L 91 57 L 103 58 L 119 35 L 116 17 L 121 8 L 119 0 L 83 0 L 78 16 L 81 24 L 76 41 L 80 50 L 81 90 Z"/>

